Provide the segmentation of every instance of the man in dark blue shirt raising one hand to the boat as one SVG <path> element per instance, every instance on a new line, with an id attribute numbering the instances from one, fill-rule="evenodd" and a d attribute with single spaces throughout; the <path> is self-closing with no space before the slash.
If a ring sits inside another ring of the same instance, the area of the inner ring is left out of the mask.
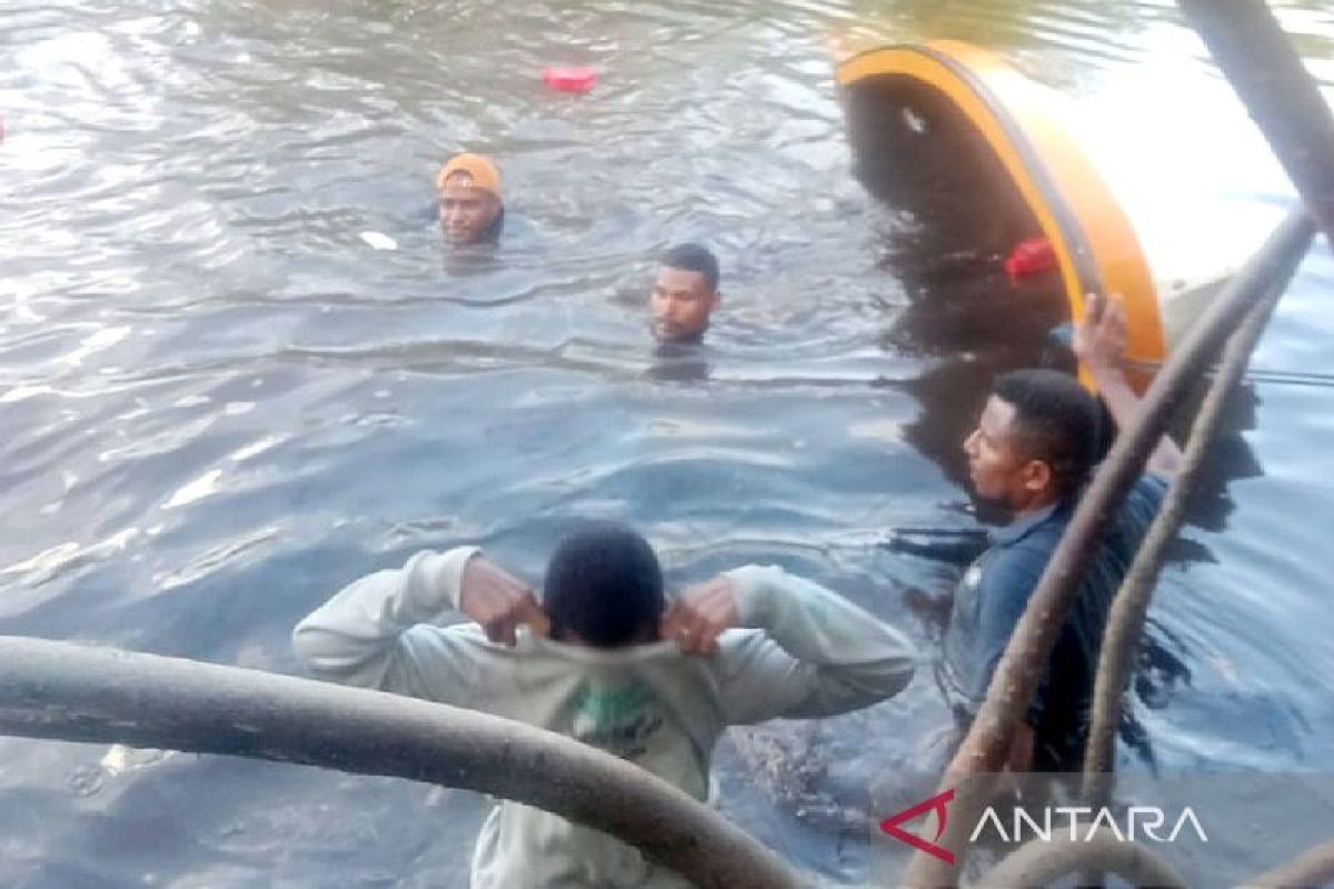
<path id="1" fill-rule="evenodd" d="M 1075 331 L 1075 353 L 1118 425 L 1139 407 L 1123 369 L 1125 343 L 1119 301 L 1091 295 Z M 996 380 L 978 428 L 964 443 L 978 496 L 1014 513 L 964 573 L 946 633 L 946 664 L 962 686 L 970 716 L 986 696 L 1010 634 L 1070 522 L 1097 460 L 1099 425 L 1097 401 L 1074 379 L 1054 371 L 1018 371 Z M 1015 734 L 1011 769 L 1081 768 L 1107 610 L 1179 462 L 1181 452 L 1165 437 L 1086 568 Z"/>

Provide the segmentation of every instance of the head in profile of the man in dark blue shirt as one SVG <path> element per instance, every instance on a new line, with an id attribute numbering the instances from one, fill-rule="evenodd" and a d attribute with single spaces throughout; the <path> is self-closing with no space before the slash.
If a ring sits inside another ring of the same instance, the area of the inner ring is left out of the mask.
<path id="1" fill-rule="evenodd" d="M 1000 376 L 963 443 L 976 494 L 1025 513 L 1075 493 L 1098 461 L 1102 412 L 1057 371 Z"/>

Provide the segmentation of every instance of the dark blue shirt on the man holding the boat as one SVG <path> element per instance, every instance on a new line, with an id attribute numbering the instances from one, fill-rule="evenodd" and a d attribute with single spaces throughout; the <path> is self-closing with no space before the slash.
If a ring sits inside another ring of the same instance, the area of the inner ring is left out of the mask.
<path id="1" fill-rule="evenodd" d="M 1166 489 L 1167 482 L 1157 476 L 1135 482 L 1079 585 L 1029 705 L 1026 721 L 1034 728 L 1035 768 L 1079 768 L 1107 610 Z M 1067 500 L 1017 518 L 992 534 L 991 546 L 964 572 L 954 596 L 944 656 L 970 714 L 986 696 L 996 662 L 1070 524 L 1074 506 L 1075 501 Z"/>

